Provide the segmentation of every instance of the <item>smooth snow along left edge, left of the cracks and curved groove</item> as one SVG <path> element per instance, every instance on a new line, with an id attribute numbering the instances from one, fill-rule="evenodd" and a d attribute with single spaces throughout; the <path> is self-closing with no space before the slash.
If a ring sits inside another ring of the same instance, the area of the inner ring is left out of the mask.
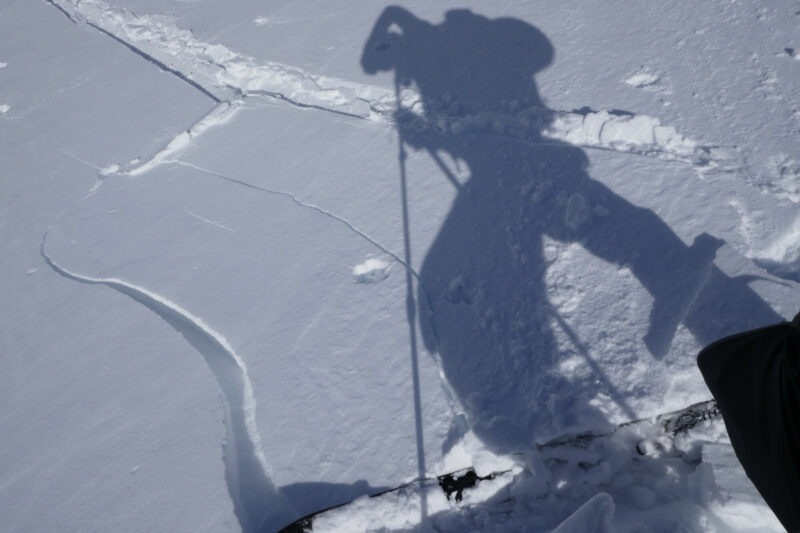
<path id="1" fill-rule="evenodd" d="M 3 528 L 236 530 L 207 369 L 142 306 L 39 254 L 101 169 L 213 101 L 46 2 L 2 2 L 0 49 Z"/>

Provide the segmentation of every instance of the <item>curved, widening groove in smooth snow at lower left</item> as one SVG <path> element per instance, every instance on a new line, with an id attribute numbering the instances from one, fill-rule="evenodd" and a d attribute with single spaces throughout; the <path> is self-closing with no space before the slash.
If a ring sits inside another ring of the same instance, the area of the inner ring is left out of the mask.
<path id="1" fill-rule="evenodd" d="M 261 449 L 256 400 L 247 366 L 225 337 L 202 318 L 148 289 L 117 278 L 94 278 L 67 270 L 47 254 L 46 241 L 47 233 L 42 238 L 40 252 L 55 272 L 80 283 L 105 285 L 132 298 L 164 319 L 200 352 L 222 393 L 225 478 L 242 528 L 255 531 L 290 520 L 296 513 L 270 481 L 272 472 Z"/>

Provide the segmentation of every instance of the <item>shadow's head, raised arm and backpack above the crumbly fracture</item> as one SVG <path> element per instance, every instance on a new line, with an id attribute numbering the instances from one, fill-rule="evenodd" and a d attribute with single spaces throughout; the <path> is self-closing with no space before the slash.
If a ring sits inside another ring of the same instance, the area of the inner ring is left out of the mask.
<path id="1" fill-rule="evenodd" d="M 414 84 L 426 113 L 463 115 L 541 106 L 533 76 L 552 60 L 547 37 L 520 20 L 455 9 L 434 25 L 390 6 L 364 45 L 361 66 L 369 74 L 393 70 L 400 86 Z"/>

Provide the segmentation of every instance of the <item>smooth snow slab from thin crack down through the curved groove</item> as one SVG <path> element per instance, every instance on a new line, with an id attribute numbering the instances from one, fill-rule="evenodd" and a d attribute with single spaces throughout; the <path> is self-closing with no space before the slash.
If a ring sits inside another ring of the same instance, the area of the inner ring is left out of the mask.
<path id="1" fill-rule="evenodd" d="M 452 415 L 424 354 L 424 440 L 415 430 L 404 267 L 357 283 L 353 268 L 381 250 L 342 220 L 167 165 L 103 182 L 43 251 L 195 347 L 233 421 L 227 441 L 249 447 L 298 516 L 415 476 L 418 445 L 427 464 L 441 457 Z"/>

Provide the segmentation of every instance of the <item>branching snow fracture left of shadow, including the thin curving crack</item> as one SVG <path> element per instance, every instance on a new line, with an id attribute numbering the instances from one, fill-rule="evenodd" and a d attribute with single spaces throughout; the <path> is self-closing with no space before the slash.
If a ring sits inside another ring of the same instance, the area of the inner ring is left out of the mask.
<path id="1" fill-rule="evenodd" d="M 400 256 L 353 226 L 349 221 L 329 211 L 302 202 L 291 193 L 258 187 L 243 180 L 173 159 L 197 136 L 233 116 L 248 97 L 279 99 L 299 107 L 388 123 L 393 119 L 392 113 L 397 103 L 392 91 L 332 77 L 314 76 L 301 69 L 280 63 L 258 61 L 235 53 L 224 45 L 201 42 L 195 39 L 191 31 L 176 26 L 169 17 L 139 16 L 113 7 L 102 0 L 48 0 L 48 2 L 61 10 L 73 22 L 80 21 L 102 31 L 122 42 L 138 55 L 191 83 L 195 88 L 201 88 L 220 102 L 211 112 L 189 129 L 179 133 L 166 147 L 148 160 L 125 170 L 101 172 L 102 176 L 98 178 L 96 187 L 100 185 L 102 178 L 109 175 L 137 176 L 168 162 L 190 166 L 230 182 L 286 196 L 299 206 L 313 209 L 335 219 L 390 255 L 408 269 L 418 282 L 420 281 L 419 274 Z M 408 109 L 418 107 L 419 95 L 407 91 L 401 103 L 404 108 Z M 420 287 L 425 294 L 426 304 L 431 310 L 430 316 L 432 317 L 430 299 L 421 283 Z M 433 323 L 431 326 L 434 336 L 436 336 L 436 328 Z M 434 356 L 434 358 L 443 383 L 446 383 L 441 362 L 438 361 L 438 356 Z M 449 385 L 445 386 L 445 392 L 455 401 Z"/>

